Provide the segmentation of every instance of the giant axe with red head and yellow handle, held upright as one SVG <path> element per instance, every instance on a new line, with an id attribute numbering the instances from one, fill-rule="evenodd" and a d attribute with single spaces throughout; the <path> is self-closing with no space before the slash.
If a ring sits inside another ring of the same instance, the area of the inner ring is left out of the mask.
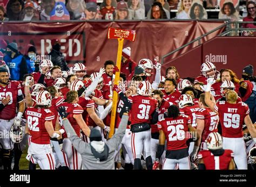
<path id="1" fill-rule="evenodd" d="M 114 85 L 118 84 L 118 80 L 120 76 L 124 40 L 134 41 L 135 37 L 136 37 L 136 31 L 134 30 L 124 30 L 124 29 L 112 28 L 112 27 L 109 27 L 109 29 L 107 30 L 107 39 L 117 39 L 118 41 L 117 62 L 116 62 L 116 67 L 118 68 L 118 71 L 116 71 L 116 74 L 115 74 Z M 114 91 L 109 138 L 111 138 L 112 135 L 114 134 L 114 122 L 116 119 L 116 111 L 117 111 L 117 97 L 118 97 L 118 93 Z"/>

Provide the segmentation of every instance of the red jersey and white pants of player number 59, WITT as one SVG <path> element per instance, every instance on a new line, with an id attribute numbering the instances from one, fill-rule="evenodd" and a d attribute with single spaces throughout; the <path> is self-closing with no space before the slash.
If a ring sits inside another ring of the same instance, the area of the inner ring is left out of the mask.
<path id="1" fill-rule="evenodd" d="M 244 119 L 250 113 L 245 103 L 230 104 L 220 101 L 214 106 L 219 113 L 223 136 L 223 148 L 231 149 L 238 169 L 247 169 L 247 155 L 242 133 Z"/>

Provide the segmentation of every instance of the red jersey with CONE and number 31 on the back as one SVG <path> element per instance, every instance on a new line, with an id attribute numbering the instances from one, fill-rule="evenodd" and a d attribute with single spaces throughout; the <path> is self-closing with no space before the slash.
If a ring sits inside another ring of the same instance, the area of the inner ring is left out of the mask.
<path id="1" fill-rule="evenodd" d="M 141 96 L 141 95 L 132 95 L 128 98 L 132 103 L 131 107 L 131 125 L 133 124 L 150 124 L 151 114 L 157 108 L 157 99 Z"/>

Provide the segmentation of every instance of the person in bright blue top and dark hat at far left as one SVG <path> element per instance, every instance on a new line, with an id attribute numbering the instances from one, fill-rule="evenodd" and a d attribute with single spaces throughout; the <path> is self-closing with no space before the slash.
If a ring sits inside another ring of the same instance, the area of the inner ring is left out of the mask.
<path id="1" fill-rule="evenodd" d="M 10 69 L 11 80 L 22 81 L 23 76 L 28 73 L 28 68 L 25 57 L 18 52 L 17 43 L 8 44 L 5 53 L 4 61 Z"/>

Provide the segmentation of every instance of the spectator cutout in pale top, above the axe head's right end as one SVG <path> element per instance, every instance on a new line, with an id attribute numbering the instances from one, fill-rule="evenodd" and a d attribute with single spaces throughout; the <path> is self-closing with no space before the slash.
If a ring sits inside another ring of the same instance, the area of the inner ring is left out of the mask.
<path id="1" fill-rule="evenodd" d="M 145 8 L 141 3 L 139 0 L 128 0 L 127 4 L 131 4 L 128 9 L 129 19 L 145 19 Z"/>

